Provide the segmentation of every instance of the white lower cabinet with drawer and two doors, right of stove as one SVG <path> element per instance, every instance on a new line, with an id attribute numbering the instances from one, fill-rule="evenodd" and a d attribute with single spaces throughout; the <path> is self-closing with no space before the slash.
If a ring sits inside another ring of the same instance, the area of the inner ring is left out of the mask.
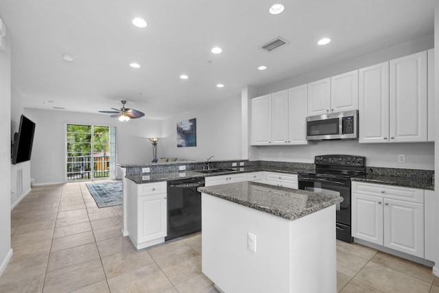
<path id="1" fill-rule="evenodd" d="M 424 191 L 353 182 L 352 236 L 424 258 Z"/>

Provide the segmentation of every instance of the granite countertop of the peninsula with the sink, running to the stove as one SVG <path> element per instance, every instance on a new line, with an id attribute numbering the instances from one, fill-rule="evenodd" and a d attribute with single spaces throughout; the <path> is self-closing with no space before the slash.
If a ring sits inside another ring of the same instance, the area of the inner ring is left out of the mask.
<path id="1" fill-rule="evenodd" d="M 132 180 L 134 183 L 153 183 L 158 181 L 169 181 L 178 179 L 189 179 L 189 178 L 204 178 L 209 176 L 221 176 L 227 174 L 239 174 L 239 173 L 250 173 L 250 172 L 279 172 L 285 174 L 298 174 L 298 172 L 304 171 L 304 169 L 293 169 L 293 168 L 282 168 L 282 167 L 233 167 L 230 168 L 233 171 L 216 172 L 216 173 L 200 173 L 196 171 L 182 171 L 182 172 L 163 172 L 163 173 L 144 173 L 144 174 L 134 174 L 126 175 L 126 178 Z"/>

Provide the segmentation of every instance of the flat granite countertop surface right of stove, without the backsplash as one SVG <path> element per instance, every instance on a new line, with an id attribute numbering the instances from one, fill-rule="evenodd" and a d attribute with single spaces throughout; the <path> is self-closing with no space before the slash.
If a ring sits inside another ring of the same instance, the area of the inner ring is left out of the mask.
<path id="1" fill-rule="evenodd" d="M 366 174 L 366 176 L 353 177 L 351 178 L 351 181 L 363 181 L 368 183 L 434 190 L 434 185 L 431 178 L 425 178 L 425 177 L 409 178 L 409 177 Z"/>

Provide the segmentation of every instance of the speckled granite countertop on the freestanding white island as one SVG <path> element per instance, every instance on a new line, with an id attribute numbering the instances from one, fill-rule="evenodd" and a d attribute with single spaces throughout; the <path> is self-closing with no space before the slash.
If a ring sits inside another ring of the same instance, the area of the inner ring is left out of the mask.
<path id="1" fill-rule="evenodd" d="M 198 191 L 287 220 L 302 218 L 343 201 L 341 196 L 250 181 L 198 187 Z"/>

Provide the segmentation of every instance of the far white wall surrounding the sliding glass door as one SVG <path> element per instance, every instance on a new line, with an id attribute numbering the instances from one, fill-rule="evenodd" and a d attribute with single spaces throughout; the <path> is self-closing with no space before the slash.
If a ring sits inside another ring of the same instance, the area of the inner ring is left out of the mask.
<path id="1" fill-rule="evenodd" d="M 36 185 L 66 181 L 66 125 L 86 124 L 117 127 L 117 163 L 144 164 L 152 161 L 148 137 L 155 137 L 161 122 L 132 119 L 120 122 L 109 115 L 74 113 L 65 110 L 25 108 L 25 115 L 36 123 L 31 158 L 31 178 Z M 120 177 L 121 174 L 118 174 Z"/>

